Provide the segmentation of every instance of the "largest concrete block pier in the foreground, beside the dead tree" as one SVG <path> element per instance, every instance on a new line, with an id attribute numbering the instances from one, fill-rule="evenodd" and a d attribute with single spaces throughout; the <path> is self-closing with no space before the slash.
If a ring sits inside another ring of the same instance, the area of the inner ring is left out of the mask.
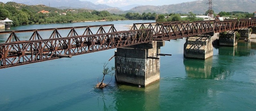
<path id="1" fill-rule="evenodd" d="M 115 77 L 117 82 L 147 86 L 160 79 L 160 47 L 162 41 L 153 41 L 117 48 Z"/>

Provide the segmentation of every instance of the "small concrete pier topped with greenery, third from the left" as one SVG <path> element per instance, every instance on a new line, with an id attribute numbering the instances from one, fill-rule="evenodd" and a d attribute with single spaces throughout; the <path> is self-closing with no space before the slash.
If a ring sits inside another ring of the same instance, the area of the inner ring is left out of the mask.
<path id="1" fill-rule="evenodd" d="M 236 39 L 237 31 L 228 31 L 219 33 L 219 45 L 222 46 L 236 46 L 237 39 Z"/>

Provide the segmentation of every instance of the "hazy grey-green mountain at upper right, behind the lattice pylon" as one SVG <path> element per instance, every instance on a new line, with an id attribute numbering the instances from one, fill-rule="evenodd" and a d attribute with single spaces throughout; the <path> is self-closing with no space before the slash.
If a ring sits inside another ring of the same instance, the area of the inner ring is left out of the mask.
<path id="1" fill-rule="evenodd" d="M 188 13 L 192 11 L 196 14 L 204 14 L 208 10 L 208 0 L 198 0 L 193 2 L 185 2 L 179 4 L 162 5 L 162 6 L 137 6 L 130 11 L 134 12 L 151 12 L 151 13 Z M 233 12 L 255 12 L 256 0 L 214 0 L 212 1 L 213 10 L 215 13 L 221 11 Z"/>

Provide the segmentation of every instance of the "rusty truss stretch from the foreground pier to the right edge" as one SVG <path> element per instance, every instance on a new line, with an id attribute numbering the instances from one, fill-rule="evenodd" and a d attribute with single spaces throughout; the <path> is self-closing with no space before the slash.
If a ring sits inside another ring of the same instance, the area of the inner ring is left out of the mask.
<path id="1" fill-rule="evenodd" d="M 256 25 L 256 19 L 232 19 L 224 21 L 174 21 L 134 23 L 131 30 L 153 29 L 153 35 L 162 40 L 195 36 L 210 32 L 225 32 Z"/>

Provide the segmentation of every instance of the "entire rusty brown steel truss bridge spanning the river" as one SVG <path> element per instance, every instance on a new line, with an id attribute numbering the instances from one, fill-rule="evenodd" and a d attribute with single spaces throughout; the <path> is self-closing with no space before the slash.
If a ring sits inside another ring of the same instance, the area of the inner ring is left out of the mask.
<path id="1" fill-rule="evenodd" d="M 129 45 L 163 41 L 207 33 L 238 30 L 256 25 L 256 19 L 225 21 L 177 21 L 162 23 L 134 23 L 129 31 L 116 31 L 113 24 L 64 27 L 55 29 L 3 31 L 8 39 L 0 44 L 0 69 L 52 60 Z M 92 28 L 98 29 L 93 33 Z M 79 35 L 76 30 L 82 29 Z M 70 30 L 62 37 L 60 30 Z M 39 34 L 51 31 L 48 39 Z M 29 40 L 20 40 L 17 33 L 32 33 Z"/>

